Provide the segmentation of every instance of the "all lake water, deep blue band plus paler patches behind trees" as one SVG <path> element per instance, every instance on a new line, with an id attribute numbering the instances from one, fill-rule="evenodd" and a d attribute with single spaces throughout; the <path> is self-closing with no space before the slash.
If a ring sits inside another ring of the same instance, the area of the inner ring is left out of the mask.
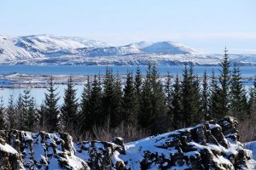
<path id="1" fill-rule="evenodd" d="M 111 65 L 110 65 L 111 66 Z M 111 66 L 114 73 L 126 74 L 127 70 L 133 72 L 136 71 L 137 66 Z M 140 66 L 142 73 L 145 74 L 147 66 Z M 181 75 L 183 73 L 184 66 L 182 65 L 159 65 L 158 70 L 160 75 L 166 75 L 167 71 L 171 74 Z M 241 76 L 242 77 L 254 77 L 256 74 L 256 66 L 241 66 Z M 11 74 L 11 73 L 22 73 L 22 74 L 45 74 L 45 75 L 94 75 L 94 74 L 104 74 L 106 66 L 105 65 L 0 65 L 0 74 Z M 218 66 L 195 66 L 195 73 L 198 75 L 203 75 L 204 71 L 208 74 L 212 74 L 212 69 L 218 74 Z M 246 81 L 246 88 L 252 84 L 251 81 Z M 64 89 L 66 85 L 57 85 L 59 96 L 63 96 Z M 84 86 L 76 86 L 78 89 L 77 97 L 83 91 Z M 3 96 L 4 105 L 8 104 L 9 95 L 13 95 L 15 100 L 18 98 L 19 94 L 22 93 L 24 88 L 3 88 L 0 90 L 0 96 Z M 31 94 L 36 99 L 37 105 L 39 106 L 44 99 L 45 88 L 32 88 Z M 61 98 L 59 104 L 63 103 Z"/>

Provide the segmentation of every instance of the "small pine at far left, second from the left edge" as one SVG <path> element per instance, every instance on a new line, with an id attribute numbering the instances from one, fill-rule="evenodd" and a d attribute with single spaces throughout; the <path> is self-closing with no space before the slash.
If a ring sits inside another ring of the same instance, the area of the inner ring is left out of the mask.
<path id="1" fill-rule="evenodd" d="M 15 112 L 15 104 L 13 95 L 9 96 L 9 103 L 7 106 L 6 116 L 8 120 L 9 129 L 14 129 L 17 127 L 17 114 Z"/>

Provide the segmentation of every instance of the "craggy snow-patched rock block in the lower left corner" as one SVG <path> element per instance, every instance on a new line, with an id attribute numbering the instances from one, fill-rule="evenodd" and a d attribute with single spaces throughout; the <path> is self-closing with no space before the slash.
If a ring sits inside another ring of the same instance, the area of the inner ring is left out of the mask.
<path id="1" fill-rule="evenodd" d="M 2 142 L 5 143 L 0 144 L 0 166 L 5 161 L 5 165 L 9 164 L 13 169 L 90 169 L 85 161 L 74 156 L 73 140 L 67 133 L 11 130 L 0 131 L 0 134 Z M 3 146 L 5 150 L 2 150 Z M 8 153 L 9 159 L 2 160 L 2 152 Z M 16 162 L 20 162 L 19 168 L 11 160 L 14 157 Z"/>

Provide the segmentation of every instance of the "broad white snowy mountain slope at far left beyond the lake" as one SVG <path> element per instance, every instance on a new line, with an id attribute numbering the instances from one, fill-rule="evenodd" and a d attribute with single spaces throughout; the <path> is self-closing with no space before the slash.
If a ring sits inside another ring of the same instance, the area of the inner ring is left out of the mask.
<path id="1" fill-rule="evenodd" d="M 33 35 L 0 36 L 0 61 L 60 57 L 77 54 L 77 48 L 106 48 L 108 44 L 80 37 Z"/>

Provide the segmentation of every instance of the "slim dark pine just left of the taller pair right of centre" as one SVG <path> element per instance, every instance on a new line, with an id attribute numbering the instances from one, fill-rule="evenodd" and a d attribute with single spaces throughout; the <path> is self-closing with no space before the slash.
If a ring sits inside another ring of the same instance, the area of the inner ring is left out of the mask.
<path id="1" fill-rule="evenodd" d="M 181 85 L 176 76 L 175 83 L 173 84 L 171 114 L 172 114 L 172 127 L 178 129 L 183 127 L 183 114 L 182 114 L 182 94 Z"/>

